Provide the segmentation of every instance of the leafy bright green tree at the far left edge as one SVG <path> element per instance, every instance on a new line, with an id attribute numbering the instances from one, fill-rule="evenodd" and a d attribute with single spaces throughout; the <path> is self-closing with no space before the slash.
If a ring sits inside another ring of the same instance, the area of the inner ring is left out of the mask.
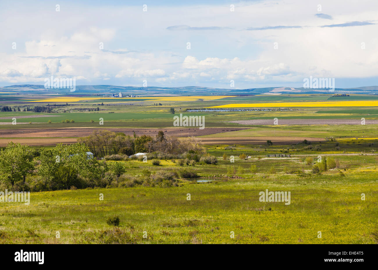
<path id="1" fill-rule="evenodd" d="M 26 175 L 34 170 L 33 151 L 28 145 L 10 142 L 0 150 L 0 179 L 7 184 L 25 183 Z"/>

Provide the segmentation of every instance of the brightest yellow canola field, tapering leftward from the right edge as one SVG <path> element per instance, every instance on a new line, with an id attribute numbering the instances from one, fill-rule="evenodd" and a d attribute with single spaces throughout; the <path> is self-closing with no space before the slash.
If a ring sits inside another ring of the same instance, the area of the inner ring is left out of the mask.
<path id="1" fill-rule="evenodd" d="M 317 102 L 271 102 L 271 103 L 235 103 L 208 108 L 267 108 L 267 107 L 373 107 L 378 106 L 378 100 L 351 100 L 351 101 L 317 101 Z"/>

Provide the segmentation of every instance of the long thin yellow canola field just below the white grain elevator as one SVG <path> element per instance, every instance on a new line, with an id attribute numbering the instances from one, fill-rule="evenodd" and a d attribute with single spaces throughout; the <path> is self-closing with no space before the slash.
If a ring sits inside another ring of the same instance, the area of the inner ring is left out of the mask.
<path id="1" fill-rule="evenodd" d="M 50 99 L 36 99 L 28 102 L 78 102 L 85 100 L 100 100 L 100 99 L 112 99 L 120 102 L 122 100 L 134 100 L 147 99 L 155 101 L 196 101 L 202 100 L 215 100 L 223 99 L 225 97 L 235 97 L 235 96 L 176 96 L 176 97 L 53 97 Z"/>

